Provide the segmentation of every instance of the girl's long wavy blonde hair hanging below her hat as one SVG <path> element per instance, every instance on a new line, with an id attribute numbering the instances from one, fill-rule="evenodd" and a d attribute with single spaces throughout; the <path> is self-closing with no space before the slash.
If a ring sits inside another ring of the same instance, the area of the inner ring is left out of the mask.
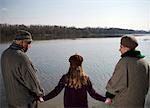
<path id="1" fill-rule="evenodd" d="M 82 66 L 71 65 L 68 73 L 65 75 L 65 86 L 71 88 L 81 88 L 87 84 L 88 76 L 85 74 Z"/>

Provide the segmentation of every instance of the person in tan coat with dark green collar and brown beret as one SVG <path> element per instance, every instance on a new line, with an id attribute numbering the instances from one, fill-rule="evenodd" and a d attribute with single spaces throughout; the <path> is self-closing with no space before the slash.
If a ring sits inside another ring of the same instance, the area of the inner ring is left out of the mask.
<path id="1" fill-rule="evenodd" d="M 150 66 L 144 55 L 135 50 L 135 37 L 121 38 L 121 59 L 106 86 L 106 97 L 113 98 L 115 108 L 143 108 L 149 88 Z"/>

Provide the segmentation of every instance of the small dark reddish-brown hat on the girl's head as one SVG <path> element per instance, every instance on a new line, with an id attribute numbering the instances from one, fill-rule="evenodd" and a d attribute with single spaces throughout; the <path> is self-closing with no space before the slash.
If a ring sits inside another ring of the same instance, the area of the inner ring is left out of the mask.
<path id="1" fill-rule="evenodd" d="M 72 55 L 70 58 L 69 58 L 69 62 L 71 64 L 76 64 L 77 66 L 81 66 L 82 62 L 83 62 L 83 57 L 78 55 L 78 54 L 75 54 L 75 55 Z"/>

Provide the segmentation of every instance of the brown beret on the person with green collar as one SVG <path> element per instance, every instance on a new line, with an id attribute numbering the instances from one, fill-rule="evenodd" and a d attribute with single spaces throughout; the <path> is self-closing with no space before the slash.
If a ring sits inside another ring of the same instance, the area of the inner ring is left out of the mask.
<path id="1" fill-rule="evenodd" d="M 130 49 L 135 49 L 138 46 L 138 42 L 134 36 L 123 36 L 120 44 Z"/>

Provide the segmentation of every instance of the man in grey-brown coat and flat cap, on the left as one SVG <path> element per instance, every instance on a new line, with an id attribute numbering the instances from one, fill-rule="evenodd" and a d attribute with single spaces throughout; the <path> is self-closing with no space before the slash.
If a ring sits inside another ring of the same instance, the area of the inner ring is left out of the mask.
<path id="1" fill-rule="evenodd" d="M 1 68 L 9 108 L 37 108 L 44 95 L 36 69 L 25 54 L 32 41 L 31 34 L 19 30 L 16 38 L 1 56 Z"/>

